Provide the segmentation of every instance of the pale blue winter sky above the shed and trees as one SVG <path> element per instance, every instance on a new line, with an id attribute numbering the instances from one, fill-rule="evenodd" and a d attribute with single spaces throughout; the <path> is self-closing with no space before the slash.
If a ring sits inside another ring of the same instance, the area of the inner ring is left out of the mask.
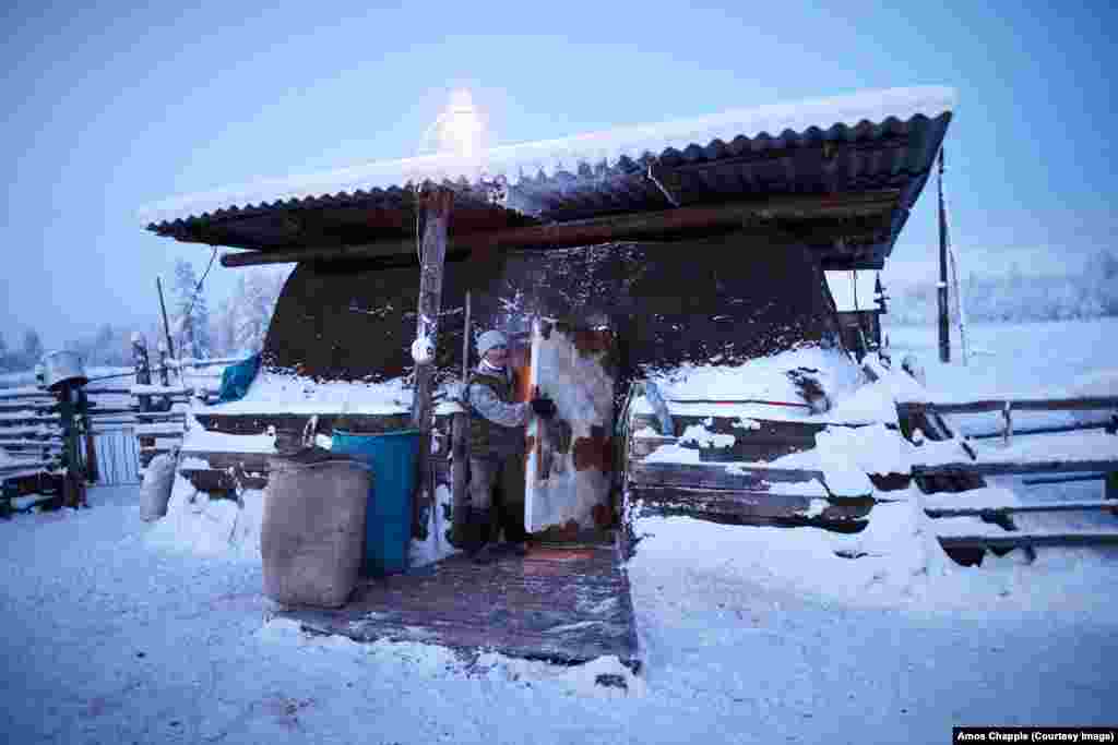
<path id="1" fill-rule="evenodd" d="M 35 326 L 51 346 L 150 319 L 155 276 L 180 256 L 201 271 L 209 250 L 146 233 L 138 208 L 414 154 L 462 85 L 498 143 L 950 85 L 956 242 L 994 264 L 1081 257 L 1118 229 L 1118 13 L 1069 6 L 8 3 L 0 331 L 11 345 Z M 931 197 L 898 275 L 932 256 Z M 236 278 L 215 267 L 211 307 Z"/>

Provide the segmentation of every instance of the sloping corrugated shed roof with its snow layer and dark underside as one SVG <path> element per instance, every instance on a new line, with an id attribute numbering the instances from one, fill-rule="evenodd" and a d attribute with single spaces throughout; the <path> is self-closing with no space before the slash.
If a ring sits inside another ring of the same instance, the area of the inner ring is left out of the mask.
<path id="1" fill-rule="evenodd" d="M 863 258 L 880 261 L 923 187 L 955 103 L 953 89 L 923 87 L 735 109 L 495 147 L 474 159 L 430 155 L 258 182 L 169 200 L 141 214 L 159 235 L 269 250 L 414 236 L 411 185 L 425 182 L 455 190 L 452 233 L 896 190 L 890 214 L 869 221 L 850 214 L 847 222 L 861 223 L 819 233 L 821 243 L 840 233 L 861 242 Z"/>

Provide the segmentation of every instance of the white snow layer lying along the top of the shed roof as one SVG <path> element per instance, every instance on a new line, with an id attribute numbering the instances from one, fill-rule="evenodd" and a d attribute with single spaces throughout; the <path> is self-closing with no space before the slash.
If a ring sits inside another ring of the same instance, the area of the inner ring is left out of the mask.
<path id="1" fill-rule="evenodd" d="M 580 163 L 612 166 L 622 157 L 636 160 L 645 153 L 663 153 L 669 149 L 683 151 L 691 145 L 730 142 L 738 136 L 768 134 L 780 137 L 788 131 L 799 133 L 812 127 L 856 126 L 862 122 L 880 123 L 889 118 L 908 121 L 916 115 L 935 117 L 953 111 L 956 101 L 954 88 L 922 86 L 862 92 L 798 104 L 735 108 L 698 118 L 503 145 L 473 157 L 438 153 L 376 161 L 304 176 L 262 180 L 160 201 L 141 208 L 139 217 L 146 227 L 233 207 L 247 208 L 291 199 L 401 188 L 424 181 L 477 183 L 503 180 L 517 183 L 524 178 L 537 178 L 540 173 L 550 176 L 565 169 L 574 171 Z"/>

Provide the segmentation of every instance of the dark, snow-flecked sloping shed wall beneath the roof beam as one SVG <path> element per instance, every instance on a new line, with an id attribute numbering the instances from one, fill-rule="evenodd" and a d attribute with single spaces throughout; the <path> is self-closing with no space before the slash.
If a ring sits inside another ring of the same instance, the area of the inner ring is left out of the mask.
<path id="1" fill-rule="evenodd" d="M 300 264 L 276 306 L 266 364 L 326 380 L 407 374 L 418 285 L 416 266 Z M 534 314 L 609 325 L 620 340 L 623 380 L 719 354 L 721 364 L 733 364 L 803 341 L 836 341 L 823 274 L 809 251 L 759 243 L 756 235 L 448 261 L 440 379 L 462 369 L 467 289 L 475 335 L 494 326 L 527 331 Z"/>

